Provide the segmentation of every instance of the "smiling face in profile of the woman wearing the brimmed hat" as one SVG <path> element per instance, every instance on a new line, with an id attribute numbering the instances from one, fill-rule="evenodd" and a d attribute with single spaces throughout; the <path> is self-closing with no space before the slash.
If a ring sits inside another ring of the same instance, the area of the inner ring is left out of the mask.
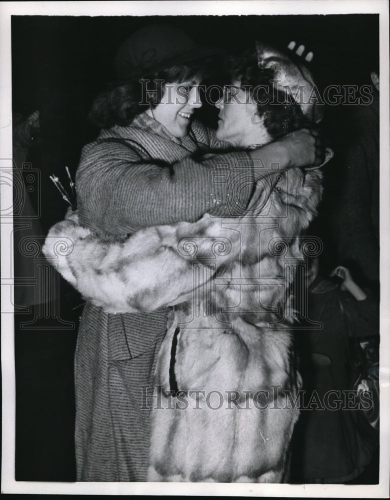
<path id="1" fill-rule="evenodd" d="M 161 101 L 147 113 L 159 121 L 174 137 L 185 137 L 194 110 L 201 107 L 200 77 L 166 83 Z"/>

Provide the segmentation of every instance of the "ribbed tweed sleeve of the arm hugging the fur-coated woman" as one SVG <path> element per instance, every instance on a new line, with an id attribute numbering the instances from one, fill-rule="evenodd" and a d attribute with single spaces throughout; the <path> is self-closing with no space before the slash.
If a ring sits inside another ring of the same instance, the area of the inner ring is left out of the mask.
<path id="1" fill-rule="evenodd" d="M 125 141 L 99 140 L 83 149 L 76 174 L 80 222 L 104 234 L 128 234 L 144 227 L 193 222 L 204 213 L 231 216 L 226 181 L 245 169 L 247 152 L 185 157 L 172 163 L 143 158 Z M 253 188 L 245 184 L 241 199 Z"/>

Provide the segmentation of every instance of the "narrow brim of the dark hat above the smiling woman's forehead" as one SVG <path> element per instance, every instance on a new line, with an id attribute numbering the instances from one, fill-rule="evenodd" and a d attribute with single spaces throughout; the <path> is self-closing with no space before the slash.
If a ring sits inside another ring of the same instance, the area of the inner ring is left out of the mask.
<path id="1" fill-rule="evenodd" d="M 209 47 L 196 47 L 191 50 L 186 50 L 184 52 L 178 52 L 166 59 L 162 59 L 148 67 L 142 68 L 142 71 L 133 71 L 129 74 L 120 77 L 121 80 L 132 81 L 143 77 L 149 76 L 151 73 L 156 71 L 161 71 L 163 69 L 168 69 L 172 66 L 178 64 L 185 64 L 186 62 L 193 62 L 197 59 L 204 59 L 205 57 L 211 56 L 222 56 L 224 51 L 219 48 L 209 48 Z"/>

